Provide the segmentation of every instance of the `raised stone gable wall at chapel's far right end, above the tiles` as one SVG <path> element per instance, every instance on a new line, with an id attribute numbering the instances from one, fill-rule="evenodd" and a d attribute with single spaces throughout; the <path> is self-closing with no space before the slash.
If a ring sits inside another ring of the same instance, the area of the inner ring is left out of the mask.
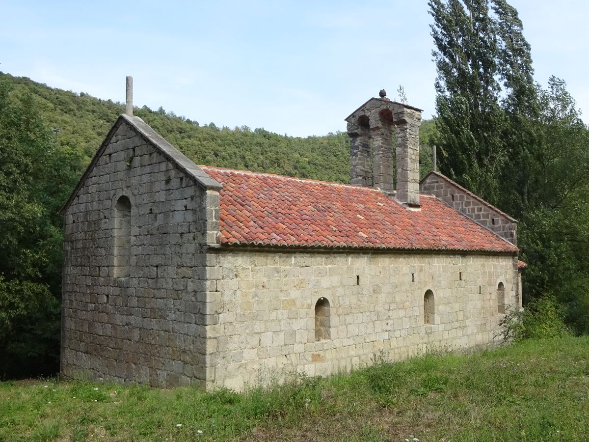
<path id="1" fill-rule="evenodd" d="M 485 203 L 474 193 L 432 172 L 420 183 L 421 193 L 432 194 L 463 215 L 517 245 L 517 221 Z"/>

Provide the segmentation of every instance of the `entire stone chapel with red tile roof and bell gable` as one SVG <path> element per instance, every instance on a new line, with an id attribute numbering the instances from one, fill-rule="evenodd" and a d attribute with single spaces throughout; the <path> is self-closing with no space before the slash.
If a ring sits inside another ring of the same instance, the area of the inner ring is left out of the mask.
<path id="1" fill-rule="evenodd" d="M 241 390 L 498 342 L 517 221 L 419 181 L 418 108 L 346 121 L 351 184 L 197 166 L 121 115 L 64 206 L 62 375 Z"/>

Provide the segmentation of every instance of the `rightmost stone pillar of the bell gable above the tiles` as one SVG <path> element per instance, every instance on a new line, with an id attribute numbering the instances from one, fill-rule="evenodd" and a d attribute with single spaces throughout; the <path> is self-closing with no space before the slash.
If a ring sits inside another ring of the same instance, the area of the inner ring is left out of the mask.
<path id="1" fill-rule="evenodd" d="M 409 108 L 395 115 L 397 199 L 419 206 L 419 125 L 421 112 Z"/>

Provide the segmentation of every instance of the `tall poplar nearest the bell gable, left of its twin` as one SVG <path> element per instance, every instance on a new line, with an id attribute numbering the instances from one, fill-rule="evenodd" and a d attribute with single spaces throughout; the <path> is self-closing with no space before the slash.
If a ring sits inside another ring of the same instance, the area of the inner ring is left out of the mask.
<path id="1" fill-rule="evenodd" d="M 499 45 L 488 0 L 430 0 L 441 170 L 490 202 L 505 160 Z"/>

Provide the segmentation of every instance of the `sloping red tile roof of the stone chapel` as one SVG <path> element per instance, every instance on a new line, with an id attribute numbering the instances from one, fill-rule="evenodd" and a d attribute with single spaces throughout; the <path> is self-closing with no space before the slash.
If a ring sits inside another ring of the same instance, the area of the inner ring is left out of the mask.
<path id="1" fill-rule="evenodd" d="M 223 184 L 221 244 L 518 251 L 433 196 L 415 211 L 372 187 L 201 167 Z"/>

